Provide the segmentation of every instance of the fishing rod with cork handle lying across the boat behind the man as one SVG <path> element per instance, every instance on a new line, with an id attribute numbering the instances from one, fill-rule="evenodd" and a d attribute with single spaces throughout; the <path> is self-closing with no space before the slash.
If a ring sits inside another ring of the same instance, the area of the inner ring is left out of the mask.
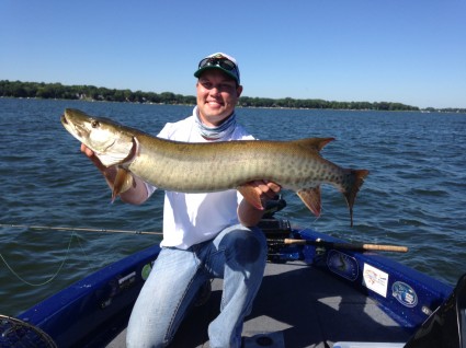
<path id="1" fill-rule="evenodd" d="M 71 231 L 71 232 L 152 234 L 152 235 L 162 235 L 163 234 L 162 232 L 154 232 L 154 231 L 90 229 L 90 228 L 48 227 L 48 225 L 8 224 L 8 223 L 0 223 L 0 228 Z M 396 253 L 407 253 L 408 252 L 407 246 L 385 245 L 385 244 L 366 244 L 366 243 L 334 243 L 334 242 L 326 242 L 326 241 L 322 241 L 320 239 L 318 239 L 316 241 L 284 239 L 284 240 L 275 240 L 274 242 L 282 243 L 282 244 L 285 244 L 285 245 L 314 245 L 314 246 L 320 246 L 320 247 L 327 247 L 327 248 L 338 248 L 338 250 L 346 250 L 346 251 L 354 251 L 354 252 L 367 252 L 367 251 L 396 252 Z"/>

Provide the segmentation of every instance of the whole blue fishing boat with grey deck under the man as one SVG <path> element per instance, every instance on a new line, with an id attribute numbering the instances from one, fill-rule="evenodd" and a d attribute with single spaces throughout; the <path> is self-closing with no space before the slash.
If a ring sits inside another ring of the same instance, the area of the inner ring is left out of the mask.
<path id="1" fill-rule="evenodd" d="M 261 228 L 269 262 L 243 347 L 465 347 L 464 278 L 454 289 L 380 252 L 274 217 Z M 159 252 L 139 251 L 18 317 L 0 316 L 0 347 L 125 347 L 133 304 Z M 221 280 L 204 290 L 170 347 L 208 347 Z"/>

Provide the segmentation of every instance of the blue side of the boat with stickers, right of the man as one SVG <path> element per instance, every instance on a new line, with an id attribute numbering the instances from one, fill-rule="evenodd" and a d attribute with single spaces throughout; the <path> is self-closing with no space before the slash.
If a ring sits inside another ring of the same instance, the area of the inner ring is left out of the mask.
<path id="1" fill-rule="evenodd" d="M 302 231 L 303 239 L 339 239 L 312 231 Z M 452 293 L 453 288 L 376 253 L 356 253 L 329 250 L 316 253 L 316 247 L 305 246 L 306 263 L 331 271 L 351 287 L 374 299 L 384 312 L 400 326 L 413 332 Z M 373 282 L 373 283 L 370 283 Z"/>

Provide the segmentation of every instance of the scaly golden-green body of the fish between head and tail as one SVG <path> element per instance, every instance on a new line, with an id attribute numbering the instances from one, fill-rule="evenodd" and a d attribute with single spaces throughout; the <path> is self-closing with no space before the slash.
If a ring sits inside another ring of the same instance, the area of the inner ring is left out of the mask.
<path id="1" fill-rule="evenodd" d="M 146 142 L 143 137 L 139 140 Z M 326 161 L 305 165 L 312 159 L 311 152 L 303 151 L 297 161 L 299 144 L 284 144 L 273 141 L 220 142 L 212 151 L 211 144 L 205 143 L 190 143 L 187 149 L 184 144 L 160 141 L 157 150 L 143 146 L 128 170 L 139 173 L 157 187 L 185 193 L 225 190 L 254 179 L 283 183 L 284 188 L 294 189 L 315 185 L 317 181 L 314 178 L 319 172 L 342 171 Z M 163 167 L 170 170 L 159 170 Z M 297 175 L 291 177 L 289 167 L 297 169 Z"/>

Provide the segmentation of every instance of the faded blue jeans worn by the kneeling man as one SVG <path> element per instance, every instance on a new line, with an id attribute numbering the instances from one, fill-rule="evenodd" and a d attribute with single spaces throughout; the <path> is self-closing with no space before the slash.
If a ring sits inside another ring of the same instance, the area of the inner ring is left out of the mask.
<path id="1" fill-rule="evenodd" d="M 223 278 L 220 314 L 209 324 L 211 347 L 240 347 L 245 316 L 262 281 L 266 240 L 240 224 L 189 250 L 162 248 L 129 318 L 127 347 L 166 347 L 207 279 Z"/>

